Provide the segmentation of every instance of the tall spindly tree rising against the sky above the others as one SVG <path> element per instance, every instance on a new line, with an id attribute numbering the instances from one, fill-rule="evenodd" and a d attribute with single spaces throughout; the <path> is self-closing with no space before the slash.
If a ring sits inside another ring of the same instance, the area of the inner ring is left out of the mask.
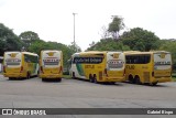
<path id="1" fill-rule="evenodd" d="M 123 19 L 120 17 L 113 17 L 113 20 L 111 23 L 109 23 L 109 29 L 108 31 L 112 34 L 112 37 L 114 40 L 118 40 L 120 34 L 120 30 L 124 29 L 124 23 L 123 23 Z"/>

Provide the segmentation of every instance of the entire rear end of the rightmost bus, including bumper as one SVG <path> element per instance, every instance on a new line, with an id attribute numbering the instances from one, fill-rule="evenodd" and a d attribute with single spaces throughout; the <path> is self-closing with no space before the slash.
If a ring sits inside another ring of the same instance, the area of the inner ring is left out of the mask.
<path id="1" fill-rule="evenodd" d="M 163 83 L 172 81 L 172 55 L 169 52 L 154 52 L 154 68 L 152 83 Z"/>

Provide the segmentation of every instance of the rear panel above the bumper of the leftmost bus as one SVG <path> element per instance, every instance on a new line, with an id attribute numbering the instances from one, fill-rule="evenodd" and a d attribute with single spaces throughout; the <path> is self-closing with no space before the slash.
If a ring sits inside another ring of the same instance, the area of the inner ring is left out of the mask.
<path id="1" fill-rule="evenodd" d="M 22 66 L 22 54 L 20 52 L 4 53 L 4 73 L 20 73 Z"/>

